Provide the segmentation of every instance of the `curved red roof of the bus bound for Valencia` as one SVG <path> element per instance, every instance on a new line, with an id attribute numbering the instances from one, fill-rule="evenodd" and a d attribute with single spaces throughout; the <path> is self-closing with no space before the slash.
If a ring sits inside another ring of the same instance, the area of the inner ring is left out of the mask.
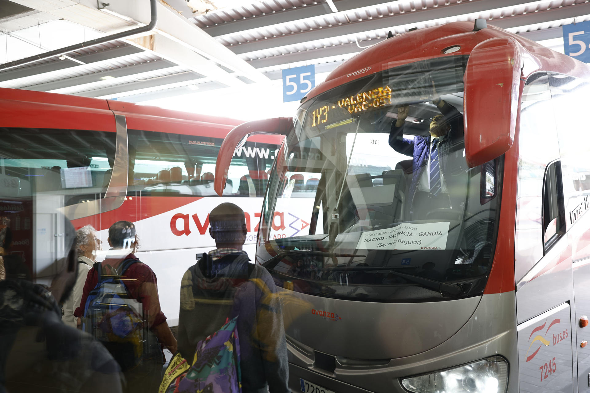
<path id="1" fill-rule="evenodd" d="M 477 44 L 495 37 L 512 37 L 523 46 L 523 77 L 536 71 L 552 71 L 590 79 L 590 67 L 581 61 L 495 26 L 487 25 L 478 31 L 473 31 L 473 28 L 473 22 L 452 22 L 385 39 L 340 64 L 324 82 L 310 91 L 307 100 L 339 85 L 388 68 L 429 58 L 468 55 Z M 445 49 L 455 46 L 460 49 L 452 54 L 443 53 Z"/>

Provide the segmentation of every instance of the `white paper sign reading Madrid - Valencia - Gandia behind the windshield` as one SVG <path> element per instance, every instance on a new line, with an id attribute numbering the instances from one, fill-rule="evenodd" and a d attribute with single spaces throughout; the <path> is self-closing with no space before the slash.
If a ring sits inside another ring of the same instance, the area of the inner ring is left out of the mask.
<path id="1" fill-rule="evenodd" d="M 408 224 L 372 230 L 360 236 L 359 250 L 444 250 L 449 222 Z"/>

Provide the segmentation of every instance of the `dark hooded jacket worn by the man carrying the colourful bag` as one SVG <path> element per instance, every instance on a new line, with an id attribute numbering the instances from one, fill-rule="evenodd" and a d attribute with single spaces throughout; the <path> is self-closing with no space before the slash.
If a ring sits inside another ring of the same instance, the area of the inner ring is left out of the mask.
<path id="1" fill-rule="evenodd" d="M 196 344 L 238 315 L 242 392 L 290 392 L 287 346 L 276 286 L 243 253 L 211 260 L 207 253 L 181 283 L 178 350 L 192 362 Z"/>

